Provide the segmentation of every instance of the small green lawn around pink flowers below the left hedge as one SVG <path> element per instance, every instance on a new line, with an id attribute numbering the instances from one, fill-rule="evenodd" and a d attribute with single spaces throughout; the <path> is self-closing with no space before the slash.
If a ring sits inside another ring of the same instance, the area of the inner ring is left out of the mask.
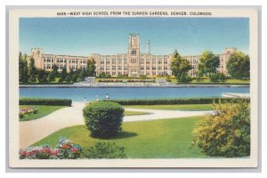
<path id="1" fill-rule="evenodd" d="M 23 118 L 20 118 L 20 121 L 28 121 L 28 120 L 34 120 L 36 118 L 44 117 L 44 116 L 52 113 L 53 111 L 55 111 L 57 109 L 65 108 L 66 106 L 20 105 L 20 109 L 25 109 L 28 107 L 35 107 L 39 110 L 36 114 L 30 114 L 30 115 L 27 115 Z"/>

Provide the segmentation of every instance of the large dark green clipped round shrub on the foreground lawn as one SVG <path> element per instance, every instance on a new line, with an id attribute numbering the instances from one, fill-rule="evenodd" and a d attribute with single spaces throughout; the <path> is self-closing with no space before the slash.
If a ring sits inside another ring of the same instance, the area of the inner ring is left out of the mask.
<path id="1" fill-rule="evenodd" d="M 124 108 L 117 102 L 97 101 L 85 106 L 83 113 L 93 137 L 109 138 L 120 130 Z"/>

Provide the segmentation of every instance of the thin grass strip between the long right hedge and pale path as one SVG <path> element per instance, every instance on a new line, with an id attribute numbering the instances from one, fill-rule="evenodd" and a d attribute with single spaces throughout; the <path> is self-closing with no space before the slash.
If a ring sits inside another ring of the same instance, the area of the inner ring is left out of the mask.
<path id="1" fill-rule="evenodd" d="M 131 105 L 131 109 L 164 109 L 164 110 L 212 110 L 212 104 L 173 104 L 173 105 Z"/>

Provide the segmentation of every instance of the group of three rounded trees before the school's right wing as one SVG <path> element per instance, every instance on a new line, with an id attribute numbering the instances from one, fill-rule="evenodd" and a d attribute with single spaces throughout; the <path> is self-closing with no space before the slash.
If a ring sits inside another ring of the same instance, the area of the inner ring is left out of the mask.
<path id="1" fill-rule="evenodd" d="M 220 58 L 212 52 L 204 51 L 199 57 L 197 80 L 203 77 L 208 77 L 211 82 L 222 82 L 227 80 L 227 76 L 219 72 L 217 68 L 220 66 Z M 182 58 L 182 56 L 175 51 L 171 62 L 171 69 L 174 77 L 179 83 L 189 83 L 193 78 L 190 77 L 189 71 L 192 69 L 190 61 Z M 250 59 L 249 56 L 242 52 L 235 52 L 231 54 L 227 62 L 227 70 L 231 77 L 237 79 L 244 79 L 250 77 Z"/>

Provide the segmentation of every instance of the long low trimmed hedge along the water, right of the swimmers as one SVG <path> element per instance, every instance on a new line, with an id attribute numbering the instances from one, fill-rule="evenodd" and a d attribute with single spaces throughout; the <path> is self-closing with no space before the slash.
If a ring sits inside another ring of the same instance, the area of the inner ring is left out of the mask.
<path id="1" fill-rule="evenodd" d="M 249 99 L 245 99 L 249 101 Z M 237 102 L 234 98 L 193 98 L 170 100 L 116 100 L 121 105 L 167 105 L 167 104 L 212 104 L 221 102 Z"/>

